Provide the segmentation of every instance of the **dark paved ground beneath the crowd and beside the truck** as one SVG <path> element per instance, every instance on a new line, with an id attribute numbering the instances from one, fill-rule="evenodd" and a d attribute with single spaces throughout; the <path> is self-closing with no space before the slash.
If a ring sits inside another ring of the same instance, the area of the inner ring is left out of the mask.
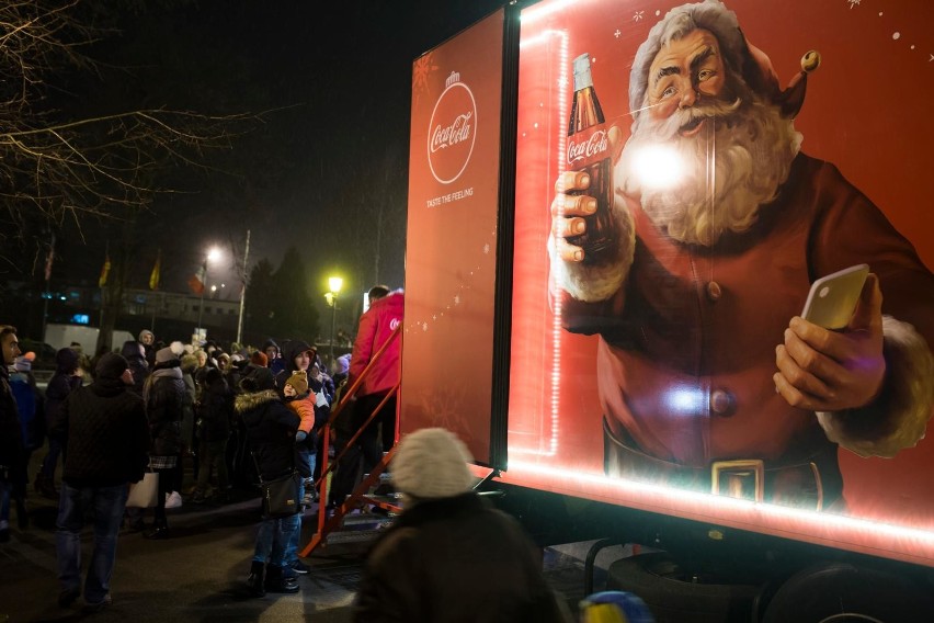
<path id="1" fill-rule="evenodd" d="M 297 594 L 253 599 L 246 593 L 258 509 L 254 494 L 236 491 L 235 501 L 228 505 L 185 503 L 169 510 L 169 540 L 148 541 L 139 533 L 123 531 L 111 587 L 113 605 L 88 614 L 80 600 L 68 610 L 56 603 L 56 502 L 32 495 L 31 528 L 23 532 L 13 529 L 11 541 L 0 544 L 0 623 L 86 618 L 95 622 L 351 621 L 366 543 L 318 548 L 305 560 L 311 573 L 300 579 Z M 13 516 L 15 524 L 15 511 Z M 309 513 L 304 543 L 315 530 L 315 516 Z M 88 548 L 90 537 L 88 528 Z M 546 575 L 572 605 L 583 597 L 583 555 L 574 553 L 580 551 L 546 551 Z"/>

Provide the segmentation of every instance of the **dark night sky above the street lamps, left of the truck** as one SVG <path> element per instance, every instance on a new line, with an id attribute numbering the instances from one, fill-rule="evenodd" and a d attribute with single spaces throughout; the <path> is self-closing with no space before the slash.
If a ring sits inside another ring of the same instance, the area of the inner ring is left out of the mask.
<path id="1" fill-rule="evenodd" d="M 225 252 L 214 274 L 234 282 L 249 228 L 249 264 L 278 265 L 295 246 L 312 292 L 332 272 L 352 292 L 402 286 L 411 63 L 504 3 L 169 1 L 122 15 L 121 35 L 92 55 L 134 66 L 71 86 L 76 110 L 270 111 L 231 150 L 205 155 L 224 173 L 173 175 L 184 192 L 160 195 L 132 234 L 128 285 L 146 286 L 161 250 L 163 290 L 184 291 L 213 245 Z M 115 224 L 84 233 L 61 231 L 56 276 L 95 282 L 105 240 L 121 237 Z"/>

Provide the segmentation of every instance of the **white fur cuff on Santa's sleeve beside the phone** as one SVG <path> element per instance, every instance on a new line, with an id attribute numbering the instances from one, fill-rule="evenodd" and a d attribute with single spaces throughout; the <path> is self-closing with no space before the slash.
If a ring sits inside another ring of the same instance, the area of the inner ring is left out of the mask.
<path id="1" fill-rule="evenodd" d="M 886 386 L 862 409 L 817 414 L 828 439 L 859 456 L 895 456 L 924 439 L 934 405 L 934 355 L 908 322 L 885 316 Z"/>

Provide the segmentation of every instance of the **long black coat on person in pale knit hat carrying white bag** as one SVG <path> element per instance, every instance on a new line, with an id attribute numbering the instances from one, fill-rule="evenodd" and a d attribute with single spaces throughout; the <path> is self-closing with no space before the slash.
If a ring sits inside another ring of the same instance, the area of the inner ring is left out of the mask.
<path id="1" fill-rule="evenodd" d="M 185 382 L 182 370 L 174 366 L 158 367 L 146 381 L 144 399 L 152 438 L 152 456 L 173 456 L 182 452 L 182 416 L 185 404 Z"/>

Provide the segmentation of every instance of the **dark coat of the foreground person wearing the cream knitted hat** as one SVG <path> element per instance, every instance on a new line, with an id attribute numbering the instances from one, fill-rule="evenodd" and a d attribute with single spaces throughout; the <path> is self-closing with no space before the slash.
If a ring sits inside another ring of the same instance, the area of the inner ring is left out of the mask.
<path id="1" fill-rule="evenodd" d="M 376 542 L 360 623 L 566 622 L 532 542 L 476 494 L 408 508 Z"/>

